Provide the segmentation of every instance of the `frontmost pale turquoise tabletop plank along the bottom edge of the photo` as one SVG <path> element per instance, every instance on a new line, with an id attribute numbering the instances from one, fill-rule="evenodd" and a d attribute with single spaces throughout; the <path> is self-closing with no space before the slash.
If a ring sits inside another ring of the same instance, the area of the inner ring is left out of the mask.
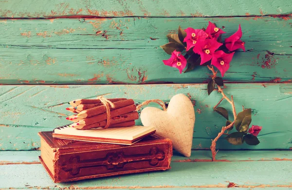
<path id="1" fill-rule="evenodd" d="M 173 162 L 165 172 L 140 173 L 108 178 L 52 182 L 41 164 L 0 166 L 0 189 L 141 189 L 141 188 L 292 188 L 291 161 Z M 37 180 L 36 180 L 37 179 Z"/>

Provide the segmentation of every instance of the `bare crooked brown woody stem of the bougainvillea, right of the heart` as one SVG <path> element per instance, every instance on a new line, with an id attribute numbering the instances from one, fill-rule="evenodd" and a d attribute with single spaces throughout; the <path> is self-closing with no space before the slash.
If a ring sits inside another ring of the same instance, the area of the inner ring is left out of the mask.
<path id="1" fill-rule="evenodd" d="M 210 69 L 210 70 L 212 71 L 212 73 L 213 73 L 212 79 L 214 79 L 214 78 L 216 77 L 216 75 L 217 75 L 217 72 L 214 70 L 213 66 L 208 66 L 208 69 Z M 212 140 L 212 144 L 211 144 L 210 149 L 211 149 L 211 151 L 212 151 L 212 160 L 213 160 L 213 161 L 216 161 L 216 154 L 217 154 L 217 152 L 216 152 L 216 142 L 217 142 L 217 140 L 218 140 L 223 134 L 225 134 L 224 132 L 225 132 L 227 129 L 231 128 L 231 127 L 234 125 L 235 120 L 236 120 L 236 116 L 237 116 L 237 114 L 236 114 L 236 110 L 235 110 L 234 101 L 233 101 L 233 96 L 231 96 L 231 100 L 230 100 L 230 99 L 224 94 L 223 89 L 222 89 L 220 86 L 218 86 L 218 92 L 222 94 L 222 99 L 221 99 L 221 100 L 219 101 L 219 103 L 218 103 L 217 105 L 215 105 L 213 108 L 215 109 L 215 108 L 216 108 L 216 107 L 222 102 L 223 99 L 227 100 L 227 102 L 229 102 L 229 103 L 231 104 L 231 106 L 232 106 L 232 112 L 233 112 L 233 116 L 234 116 L 234 121 L 233 121 L 232 123 L 230 123 L 229 125 L 222 127 L 221 132 L 218 134 L 218 136 L 217 136 L 215 139 Z"/>

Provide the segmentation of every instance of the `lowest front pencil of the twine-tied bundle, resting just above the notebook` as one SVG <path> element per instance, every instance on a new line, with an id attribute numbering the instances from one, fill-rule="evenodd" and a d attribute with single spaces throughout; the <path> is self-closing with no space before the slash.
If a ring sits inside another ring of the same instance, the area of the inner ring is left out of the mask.
<path id="1" fill-rule="evenodd" d="M 134 112 L 131 112 L 131 113 L 127 113 L 127 114 L 124 114 L 124 115 L 121 115 L 121 116 L 117 116 L 117 117 L 114 117 L 114 118 L 111 118 L 110 119 L 110 126 L 109 127 L 117 127 L 118 125 L 115 125 L 115 124 L 118 124 L 118 123 L 123 123 L 123 122 L 127 122 L 127 121 L 134 121 L 134 120 L 137 120 L 139 119 L 139 114 L 138 112 L 134 111 Z M 89 125 L 86 125 L 86 124 L 79 124 L 79 125 L 73 125 L 74 128 L 76 129 L 91 129 L 91 128 L 98 128 L 98 127 L 105 127 L 107 125 L 107 121 L 104 120 L 104 121 L 99 121 L 99 122 L 96 122 L 96 123 L 92 123 L 92 124 L 89 124 Z M 132 125 L 130 125 L 132 126 Z"/>

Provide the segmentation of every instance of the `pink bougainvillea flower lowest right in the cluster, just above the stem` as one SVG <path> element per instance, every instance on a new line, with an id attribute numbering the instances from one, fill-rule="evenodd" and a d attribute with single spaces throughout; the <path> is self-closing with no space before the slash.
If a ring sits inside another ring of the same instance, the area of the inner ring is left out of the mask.
<path id="1" fill-rule="evenodd" d="M 214 52 L 211 65 L 214 65 L 217 69 L 220 70 L 222 77 L 224 76 L 224 73 L 229 69 L 230 62 L 234 53 L 235 52 L 225 53 L 221 50 Z"/>

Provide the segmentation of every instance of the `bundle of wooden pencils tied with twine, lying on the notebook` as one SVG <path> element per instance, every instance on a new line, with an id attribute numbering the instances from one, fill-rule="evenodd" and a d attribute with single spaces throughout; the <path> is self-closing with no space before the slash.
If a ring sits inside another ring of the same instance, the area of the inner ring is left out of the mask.
<path id="1" fill-rule="evenodd" d="M 109 127 L 128 127 L 135 125 L 135 120 L 139 119 L 136 105 L 132 99 L 114 98 L 108 99 L 114 104 L 110 108 Z M 68 111 L 76 113 L 69 116 L 67 120 L 73 121 L 71 127 L 77 129 L 91 129 L 105 127 L 107 125 L 106 106 L 98 99 L 78 99 L 69 102 L 72 107 L 66 108 Z"/>

